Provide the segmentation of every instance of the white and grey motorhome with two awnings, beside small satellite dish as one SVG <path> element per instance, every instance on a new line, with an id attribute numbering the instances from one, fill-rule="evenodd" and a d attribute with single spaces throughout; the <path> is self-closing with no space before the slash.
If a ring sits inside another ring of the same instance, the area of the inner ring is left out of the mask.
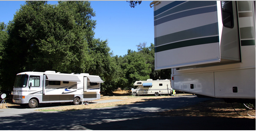
<path id="1" fill-rule="evenodd" d="M 22 72 L 16 76 L 12 101 L 31 108 L 55 102 L 78 105 L 100 99 L 100 83 L 103 81 L 99 76 L 88 73 Z"/>

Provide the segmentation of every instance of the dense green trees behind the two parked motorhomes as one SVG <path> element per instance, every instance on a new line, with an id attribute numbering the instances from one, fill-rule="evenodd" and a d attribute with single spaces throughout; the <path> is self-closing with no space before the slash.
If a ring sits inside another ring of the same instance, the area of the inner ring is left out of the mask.
<path id="1" fill-rule="evenodd" d="M 113 56 L 107 40 L 94 38 L 96 14 L 88 1 L 26 1 L 6 25 L 0 22 L 0 90 L 9 93 L 15 75 L 54 70 L 89 73 L 103 81 L 101 92 L 131 88 L 136 80 L 170 78 L 170 70 L 154 70 L 154 45 L 137 45 Z"/>

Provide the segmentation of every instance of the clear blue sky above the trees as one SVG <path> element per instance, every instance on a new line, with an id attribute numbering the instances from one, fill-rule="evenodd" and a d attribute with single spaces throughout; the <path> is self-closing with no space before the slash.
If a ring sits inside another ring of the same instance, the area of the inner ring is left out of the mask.
<path id="1" fill-rule="evenodd" d="M 146 46 L 154 43 L 152 1 L 143 1 L 131 8 L 126 1 L 91 1 L 91 7 L 96 13 L 95 38 L 108 40 L 108 46 L 114 55 L 123 56 L 128 49 L 137 51 L 136 45 L 146 42 Z M 7 24 L 13 19 L 15 12 L 25 1 L 0 1 L 0 22 Z M 49 1 L 57 4 L 57 1 Z"/>

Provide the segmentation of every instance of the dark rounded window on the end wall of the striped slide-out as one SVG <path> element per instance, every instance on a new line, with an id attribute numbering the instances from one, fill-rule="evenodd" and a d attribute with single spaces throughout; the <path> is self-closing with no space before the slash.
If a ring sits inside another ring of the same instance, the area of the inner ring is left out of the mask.
<path id="1" fill-rule="evenodd" d="M 234 27 L 232 1 L 222 1 L 222 23 L 227 28 Z"/>

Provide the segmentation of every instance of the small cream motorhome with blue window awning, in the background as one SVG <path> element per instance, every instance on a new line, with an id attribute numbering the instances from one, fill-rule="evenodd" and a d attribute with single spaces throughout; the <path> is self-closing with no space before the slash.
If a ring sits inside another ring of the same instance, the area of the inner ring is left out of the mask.
<path id="1" fill-rule="evenodd" d="M 148 79 L 145 81 L 136 81 L 134 84 L 135 89 L 133 90 L 133 95 L 146 95 L 146 94 L 155 94 L 158 96 L 159 94 L 171 94 L 171 81 L 166 80 L 152 80 Z"/>

